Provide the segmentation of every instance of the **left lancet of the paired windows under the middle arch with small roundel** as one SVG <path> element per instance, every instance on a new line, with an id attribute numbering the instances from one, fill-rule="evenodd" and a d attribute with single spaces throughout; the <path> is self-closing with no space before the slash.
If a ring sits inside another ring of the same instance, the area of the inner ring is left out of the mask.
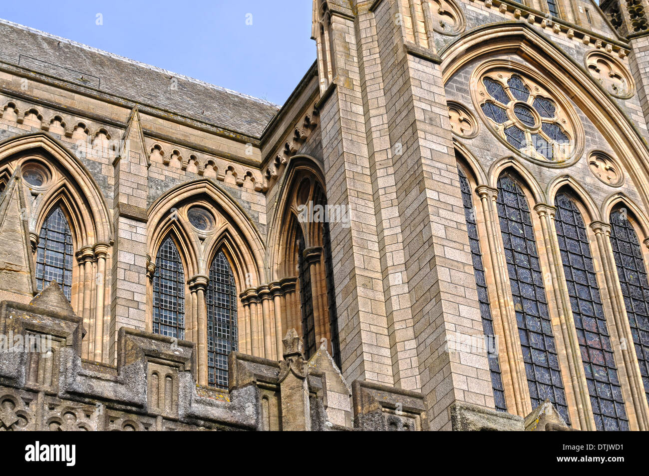
<path id="1" fill-rule="evenodd" d="M 153 275 L 153 332 L 185 338 L 185 273 L 178 249 L 167 236 L 158 249 Z"/>

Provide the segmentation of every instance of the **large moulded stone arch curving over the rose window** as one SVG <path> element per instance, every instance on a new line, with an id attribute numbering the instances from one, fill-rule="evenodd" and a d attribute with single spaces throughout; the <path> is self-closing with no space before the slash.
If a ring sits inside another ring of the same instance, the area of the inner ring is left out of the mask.
<path id="1" fill-rule="evenodd" d="M 439 52 L 446 83 L 464 64 L 495 55 L 518 55 L 552 77 L 556 86 L 590 118 L 604 140 L 620 158 L 644 204 L 649 190 L 641 187 L 649 179 L 649 149 L 622 108 L 576 61 L 526 23 L 485 25 L 467 32 Z"/>

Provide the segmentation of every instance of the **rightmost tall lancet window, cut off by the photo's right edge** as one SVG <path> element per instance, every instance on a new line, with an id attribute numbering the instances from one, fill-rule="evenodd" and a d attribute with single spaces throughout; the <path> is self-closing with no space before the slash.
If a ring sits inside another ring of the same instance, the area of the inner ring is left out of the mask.
<path id="1" fill-rule="evenodd" d="M 611 247 L 644 393 L 649 401 L 649 281 L 638 236 L 624 208 L 611 213 Z"/>

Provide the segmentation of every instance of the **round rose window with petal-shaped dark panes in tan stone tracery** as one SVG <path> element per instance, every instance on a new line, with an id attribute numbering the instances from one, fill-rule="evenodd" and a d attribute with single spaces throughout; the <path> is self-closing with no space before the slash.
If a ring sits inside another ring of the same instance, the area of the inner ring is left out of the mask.
<path id="1" fill-rule="evenodd" d="M 546 88 L 522 74 L 489 71 L 478 84 L 480 109 L 508 147 L 535 161 L 559 164 L 574 156 L 575 131 Z"/>

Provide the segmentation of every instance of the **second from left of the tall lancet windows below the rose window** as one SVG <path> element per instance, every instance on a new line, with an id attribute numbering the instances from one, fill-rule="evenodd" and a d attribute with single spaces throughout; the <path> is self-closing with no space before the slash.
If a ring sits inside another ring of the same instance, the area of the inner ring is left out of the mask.
<path id="1" fill-rule="evenodd" d="M 497 205 L 532 407 L 550 399 L 569 423 L 532 218 L 525 195 L 508 175 L 498 179 Z"/>

